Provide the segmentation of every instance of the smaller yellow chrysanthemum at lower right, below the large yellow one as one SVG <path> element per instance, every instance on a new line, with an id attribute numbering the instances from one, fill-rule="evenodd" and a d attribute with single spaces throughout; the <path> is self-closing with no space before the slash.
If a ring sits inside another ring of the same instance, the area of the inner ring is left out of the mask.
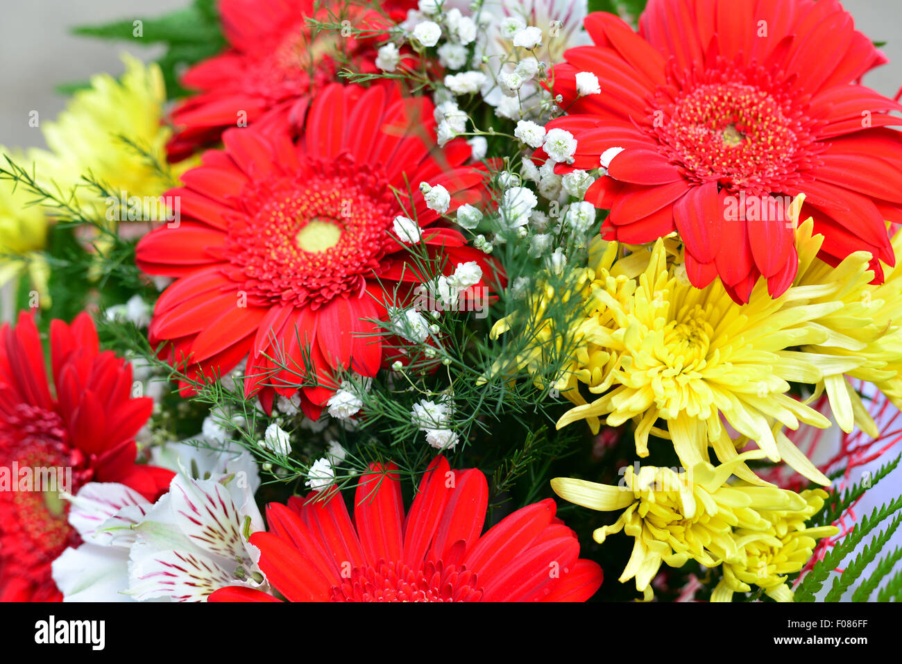
<path id="1" fill-rule="evenodd" d="M 628 467 L 621 486 L 556 478 L 551 488 L 583 507 L 623 510 L 613 525 L 595 530 L 594 539 L 603 542 L 621 530 L 634 538 L 620 581 L 635 578 L 636 589 L 650 599 L 650 583 L 661 563 L 682 567 L 694 559 L 705 567 L 723 562 L 741 567 L 747 564 L 746 539 L 736 537 L 733 529 L 759 533 L 762 540 L 769 537 L 771 541 L 778 531 L 768 512 L 782 515 L 805 510 L 805 500 L 786 489 L 724 484 L 745 459 L 761 456 L 755 450 L 721 466 L 702 462 L 683 472 L 642 466 L 635 473 Z"/>

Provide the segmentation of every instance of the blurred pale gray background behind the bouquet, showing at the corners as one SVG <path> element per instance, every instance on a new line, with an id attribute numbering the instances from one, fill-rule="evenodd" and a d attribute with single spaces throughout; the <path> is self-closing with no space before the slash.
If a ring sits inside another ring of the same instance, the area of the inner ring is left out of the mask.
<path id="1" fill-rule="evenodd" d="M 160 55 L 155 49 L 141 49 L 124 42 L 100 42 L 74 37 L 68 30 L 73 25 L 105 23 L 114 19 L 131 19 L 164 14 L 189 0 L 2 0 L 0 9 L 0 143 L 8 147 L 43 146 L 41 129 L 28 125 L 28 114 L 37 110 L 43 118 L 52 118 L 65 105 L 65 97 L 55 94 L 60 83 L 87 80 L 91 74 L 106 71 L 118 75 L 123 66 L 119 52 L 127 50 L 143 60 Z M 843 3 L 855 18 L 856 27 L 875 42 L 888 42 L 882 47 L 890 64 L 871 72 L 865 84 L 880 93 L 895 97 L 902 85 L 902 0 L 845 0 Z M 890 450 L 895 457 L 899 448 Z M 872 464 L 876 469 L 879 464 Z M 861 479 L 856 473 L 853 480 Z M 859 515 L 870 513 L 874 506 L 897 496 L 902 487 L 902 467 L 867 493 L 859 506 Z M 898 531 L 884 552 L 902 545 Z M 832 585 L 828 581 L 826 587 Z M 847 595 L 848 596 L 848 595 Z"/>

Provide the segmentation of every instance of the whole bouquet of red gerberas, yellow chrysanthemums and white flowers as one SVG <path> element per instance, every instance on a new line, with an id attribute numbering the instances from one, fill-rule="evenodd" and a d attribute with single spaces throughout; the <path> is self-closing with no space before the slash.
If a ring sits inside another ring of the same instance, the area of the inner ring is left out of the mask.
<path id="1" fill-rule="evenodd" d="M 902 598 L 902 106 L 838 0 L 77 32 L 164 54 L 0 149 L 0 600 Z"/>

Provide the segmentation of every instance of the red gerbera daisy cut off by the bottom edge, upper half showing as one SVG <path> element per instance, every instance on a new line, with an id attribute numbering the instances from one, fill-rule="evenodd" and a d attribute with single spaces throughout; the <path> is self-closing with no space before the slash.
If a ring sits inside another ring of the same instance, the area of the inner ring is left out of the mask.
<path id="1" fill-rule="evenodd" d="M 340 493 L 267 508 L 270 532 L 251 536 L 260 568 L 292 602 L 584 602 L 602 568 L 579 558 L 573 530 L 548 499 L 513 512 L 482 536 L 488 485 L 476 469 L 437 457 L 406 518 L 395 466 L 370 466 L 352 523 Z M 308 498 L 311 498 L 308 496 Z M 231 586 L 211 602 L 267 602 Z"/>

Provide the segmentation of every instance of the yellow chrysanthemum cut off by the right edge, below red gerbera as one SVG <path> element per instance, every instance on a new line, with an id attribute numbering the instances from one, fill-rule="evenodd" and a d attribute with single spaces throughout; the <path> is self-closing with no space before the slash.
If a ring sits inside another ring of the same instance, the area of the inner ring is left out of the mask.
<path id="1" fill-rule="evenodd" d="M 846 376 L 874 383 L 902 408 L 902 233 L 892 241 L 896 268 L 886 272 L 882 284 L 873 285 L 870 254 L 856 252 L 837 267 L 828 265 L 816 258 L 824 236 L 812 235 L 812 228 L 808 219 L 796 232 L 799 268 L 794 291 L 800 302 L 841 300 L 843 306 L 813 321 L 826 338 L 802 350 L 824 358 L 818 394 L 827 392 L 840 428 L 848 433 L 858 425 L 876 438 L 877 426 Z M 831 360 L 836 363 L 832 370 L 827 366 Z"/>

